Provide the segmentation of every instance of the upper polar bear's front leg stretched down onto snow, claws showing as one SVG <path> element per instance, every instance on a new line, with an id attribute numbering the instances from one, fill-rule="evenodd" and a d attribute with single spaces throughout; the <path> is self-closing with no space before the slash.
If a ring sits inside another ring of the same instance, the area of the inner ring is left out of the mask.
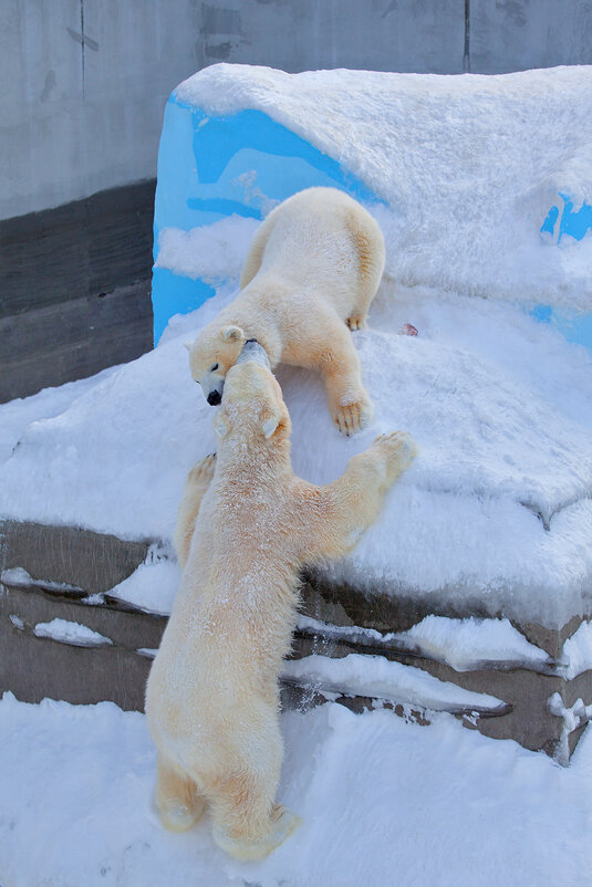
<path id="1" fill-rule="evenodd" d="M 331 346 L 322 357 L 329 411 L 343 435 L 353 435 L 367 425 L 373 415 L 372 401 L 362 385 L 360 359 L 346 328 L 331 331 Z"/>

